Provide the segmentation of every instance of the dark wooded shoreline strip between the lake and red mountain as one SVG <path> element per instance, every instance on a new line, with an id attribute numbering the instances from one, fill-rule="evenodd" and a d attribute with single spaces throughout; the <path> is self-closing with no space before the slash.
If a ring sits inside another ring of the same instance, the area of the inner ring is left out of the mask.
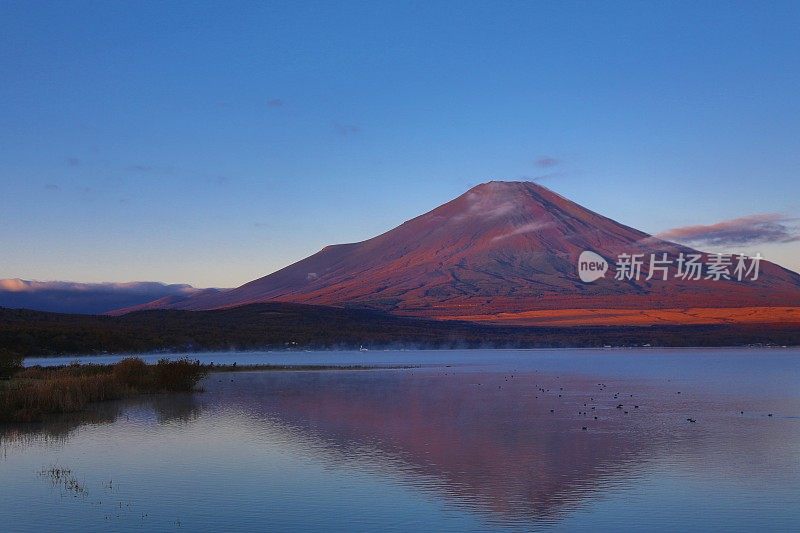
<path id="1" fill-rule="evenodd" d="M 283 302 L 218 311 L 91 316 L 0 308 L 0 350 L 26 357 L 201 350 L 800 345 L 794 324 L 513 327 L 405 318 Z M 137 384 L 135 363 L 120 370 Z M 166 386 L 185 387 L 163 368 Z M 185 370 L 193 370 L 187 368 Z"/>

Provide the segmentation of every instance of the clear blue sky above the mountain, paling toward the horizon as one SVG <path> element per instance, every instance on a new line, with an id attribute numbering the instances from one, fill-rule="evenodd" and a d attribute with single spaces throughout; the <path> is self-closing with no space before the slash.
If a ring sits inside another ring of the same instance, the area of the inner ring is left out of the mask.
<path id="1" fill-rule="evenodd" d="M 2 1 L 0 277 L 234 286 L 490 179 L 791 236 L 798 27 L 797 2 Z M 725 249 L 800 270 L 798 241 Z"/>

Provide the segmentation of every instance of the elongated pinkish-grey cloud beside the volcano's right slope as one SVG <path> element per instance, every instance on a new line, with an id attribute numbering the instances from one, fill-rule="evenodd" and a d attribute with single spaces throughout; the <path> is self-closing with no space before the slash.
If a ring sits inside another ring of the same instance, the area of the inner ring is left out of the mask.
<path id="1" fill-rule="evenodd" d="M 716 224 L 672 228 L 656 237 L 712 246 L 786 243 L 800 241 L 797 220 L 778 213 L 761 213 L 723 220 Z"/>

